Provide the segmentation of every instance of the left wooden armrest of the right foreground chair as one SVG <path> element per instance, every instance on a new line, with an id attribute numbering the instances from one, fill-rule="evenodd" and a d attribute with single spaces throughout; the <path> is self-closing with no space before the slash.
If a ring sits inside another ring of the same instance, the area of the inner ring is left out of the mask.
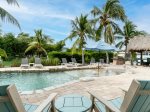
<path id="1" fill-rule="evenodd" d="M 106 109 L 109 110 L 110 112 L 121 112 L 118 108 L 116 108 L 114 105 L 109 103 L 107 100 L 103 99 L 100 97 L 99 94 L 97 94 L 95 91 L 88 91 L 88 93 L 93 97 L 94 99 L 97 99 L 100 101 L 102 104 L 105 105 Z"/>

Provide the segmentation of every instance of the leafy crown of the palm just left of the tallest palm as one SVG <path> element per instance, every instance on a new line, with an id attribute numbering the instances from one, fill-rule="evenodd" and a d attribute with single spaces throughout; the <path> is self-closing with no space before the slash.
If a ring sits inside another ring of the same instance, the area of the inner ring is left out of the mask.
<path id="1" fill-rule="evenodd" d="M 81 50 L 82 48 L 85 48 L 87 38 L 94 39 L 92 36 L 91 24 L 87 17 L 87 15 L 84 16 L 81 14 L 79 18 L 76 17 L 74 21 L 71 21 L 72 31 L 65 40 L 76 39 L 72 45 L 72 49 L 79 48 L 79 50 Z"/>

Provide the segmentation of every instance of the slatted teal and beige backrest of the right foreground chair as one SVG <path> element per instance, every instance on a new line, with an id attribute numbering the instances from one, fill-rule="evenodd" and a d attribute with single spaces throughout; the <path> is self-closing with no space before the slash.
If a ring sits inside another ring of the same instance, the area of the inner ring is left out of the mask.
<path id="1" fill-rule="evenodd" d="M 121 112 L 150 112 L 150 81 L 133 80 L 120 110 Z"/>

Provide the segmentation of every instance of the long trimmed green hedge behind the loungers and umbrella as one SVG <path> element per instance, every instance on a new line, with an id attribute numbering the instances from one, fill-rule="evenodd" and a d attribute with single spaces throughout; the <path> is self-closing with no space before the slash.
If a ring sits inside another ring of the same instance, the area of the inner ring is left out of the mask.
<path id="1" fill-rule="evenodd" d="M 109 52 L 109 60 L 112 62 L 113 53 Z M 91 52 L 91 51 L 85 51 L 85 62 L 89 63 L 91 58 L 95 58 L 96 61 L 99 61 L 99 59 L 104 59 L 106 62 L 106 52 Z M 72 53 L 72 52 L 49 52 L 48 53 L 49 58 L 58 58 L 61 60 L 61 58 L 66 58 L 68 62 L 71 62 L 71 58 L 76 58 L 77 62 L 82 62 L 82 53 Z"/>

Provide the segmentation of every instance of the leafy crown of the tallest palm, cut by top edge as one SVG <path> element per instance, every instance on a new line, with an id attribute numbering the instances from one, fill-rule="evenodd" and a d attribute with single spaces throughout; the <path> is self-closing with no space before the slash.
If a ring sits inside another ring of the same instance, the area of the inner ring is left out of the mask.
<path id="1" fill-rule="evenodd" d="M 126 19 L 125 11 L 119 0 L 107 0 L 102 9 L 94 7 L 91 13 L 95 17 L 93 20 L 95 25 L 98 23 L 98 29 L 96 29 L 97 41 L 104 37 L 106 43 L 112 44 L 114 32 L 119 29 L 114 21 Z"/>

